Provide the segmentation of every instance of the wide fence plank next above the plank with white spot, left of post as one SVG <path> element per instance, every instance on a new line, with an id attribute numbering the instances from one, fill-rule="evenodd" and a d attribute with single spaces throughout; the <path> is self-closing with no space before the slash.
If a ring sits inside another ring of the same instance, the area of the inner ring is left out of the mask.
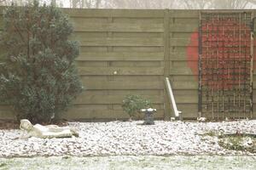
<path id="1" fill-rule="evenodd" d="M 158 61 L 164 60 L 163 52 L 149 52 L 149 53 L 139 53 L 139 52 L 82 52 L 79 58 L 76 60 L 87 61 L 87 60 L 118 60 L 118 61 Z"/>

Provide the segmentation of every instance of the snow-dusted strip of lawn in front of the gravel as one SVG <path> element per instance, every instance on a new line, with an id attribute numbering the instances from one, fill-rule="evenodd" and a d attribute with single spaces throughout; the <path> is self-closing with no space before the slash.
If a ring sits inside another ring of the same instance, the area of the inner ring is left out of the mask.
<path id="1" fill-rule="evenodd" d="M 0 158 L 0 169 L 256 169 L 256 156 L 50 156 Z"/>

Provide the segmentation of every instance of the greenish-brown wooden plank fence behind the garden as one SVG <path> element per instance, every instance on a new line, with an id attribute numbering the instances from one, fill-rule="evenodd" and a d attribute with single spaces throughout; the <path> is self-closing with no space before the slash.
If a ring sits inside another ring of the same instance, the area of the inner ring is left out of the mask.
<path id="1" fill-rule="evenodd" d="M 173 113 L 165 77 L 172 81 L 177 108 L 183 111 L 183 117 L 197 117 L 200 10 L 63 11 L 74 26 L 70 38 L 80 42 L 77 64 L 85 87 L 63 115 L 65 118 L 124 119 L 124 96 L 141 94 L 154 103 L 156 118 L 168 120 Z M 255 94 L 256 87 L 253 88 Z M 256 103 L 253 106 L 256 109 Z M 13 114 L 8 107 L 1 107 L 0 117 L 13 118 Z"/>

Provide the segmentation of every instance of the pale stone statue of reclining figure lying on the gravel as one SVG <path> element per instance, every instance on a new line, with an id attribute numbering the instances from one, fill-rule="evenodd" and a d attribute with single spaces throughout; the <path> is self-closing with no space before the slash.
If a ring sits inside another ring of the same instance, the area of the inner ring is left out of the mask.
<path id="1" fill-rule="evenodd" d="M 50 138 L 67 138 L 76 136 L 79 133 L 71 127 L 58 127 L 56 125 L 43 126 L 40 124 L 32 125 L 27 119 L 20 120 L 20 129 L 28 133 L 28 137 L 36 137 L 42 139 Z"/>

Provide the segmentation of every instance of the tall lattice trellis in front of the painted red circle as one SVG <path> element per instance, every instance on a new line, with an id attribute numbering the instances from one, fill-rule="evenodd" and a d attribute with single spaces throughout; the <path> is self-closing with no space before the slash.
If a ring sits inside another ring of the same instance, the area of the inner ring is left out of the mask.
<path id="1" fill-rule="evenodd" d="M 253 113 L 251 12 L 201 13 L 199 112 L 212 119 Z"/>

